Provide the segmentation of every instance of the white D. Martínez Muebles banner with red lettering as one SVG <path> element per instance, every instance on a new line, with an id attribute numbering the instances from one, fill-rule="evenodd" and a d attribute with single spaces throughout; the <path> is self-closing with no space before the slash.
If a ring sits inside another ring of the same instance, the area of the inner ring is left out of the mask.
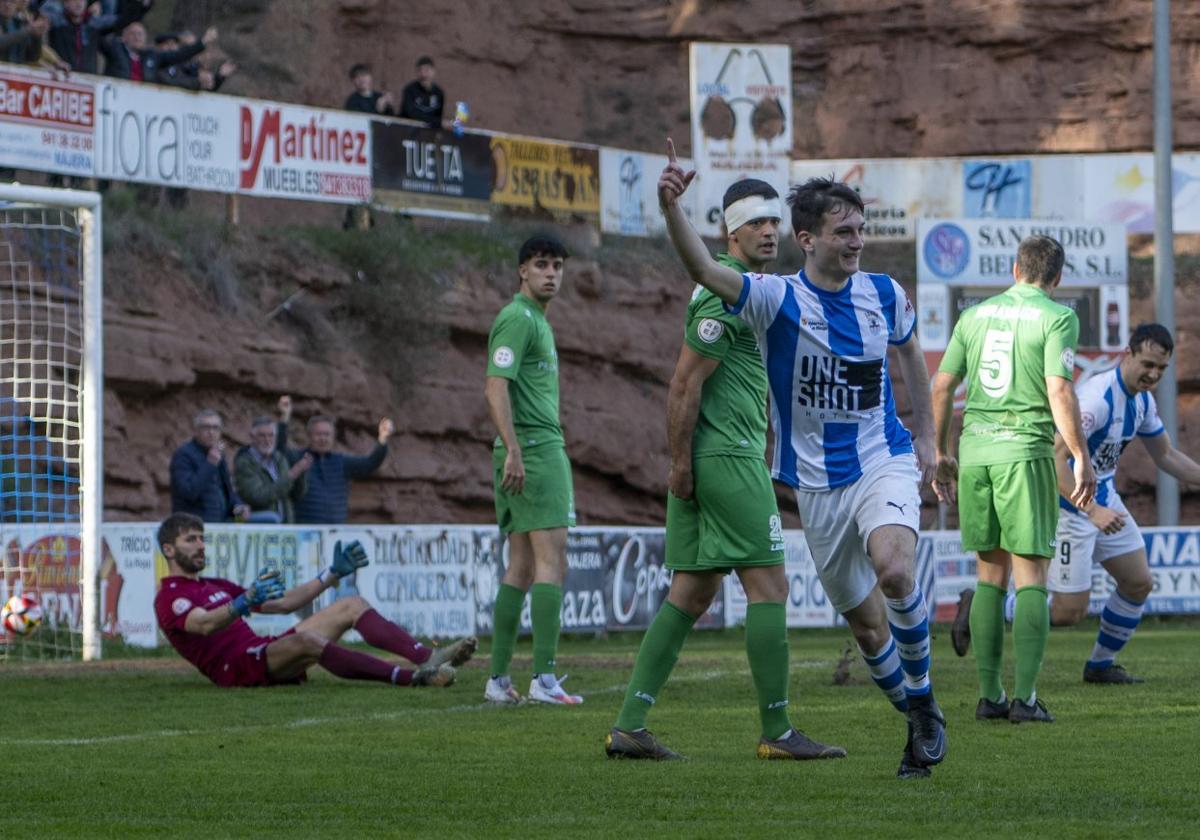
<path id="1" fill-rule="evenodd" d="M 366 115 L 244 100 L 238 192 L 358 204 L 371 198 Z"/>

